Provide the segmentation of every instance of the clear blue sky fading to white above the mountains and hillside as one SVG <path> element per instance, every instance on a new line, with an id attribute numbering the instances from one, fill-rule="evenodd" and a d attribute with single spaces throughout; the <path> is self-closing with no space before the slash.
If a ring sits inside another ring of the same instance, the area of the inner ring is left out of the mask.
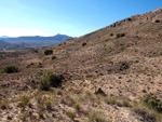
<path id="1" fill-rule="evenodd" d="M 0 36 L 83 36 L 162 0 L 0 0 Z"/>

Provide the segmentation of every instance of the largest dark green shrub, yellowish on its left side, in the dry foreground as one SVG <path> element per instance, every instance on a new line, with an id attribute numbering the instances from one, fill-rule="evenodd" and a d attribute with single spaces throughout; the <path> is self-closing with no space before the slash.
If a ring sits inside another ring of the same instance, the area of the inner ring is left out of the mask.
<path id="1" fill-rule="evenodd" d="M 40 82 L 39 89 L 42 91 L 49 91 L 50 87 L 58 87 L 62 84 L 62 76 L 49 72 Z"/>

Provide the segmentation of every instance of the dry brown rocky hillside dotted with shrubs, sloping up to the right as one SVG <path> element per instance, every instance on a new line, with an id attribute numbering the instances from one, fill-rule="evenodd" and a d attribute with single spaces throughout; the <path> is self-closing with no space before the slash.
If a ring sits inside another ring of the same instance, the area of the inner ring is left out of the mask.
<path id="1" fill-rule="evenodd" d="M 161 122 L 161 39 L 159 9 L 49 49 L 1 54 L 0 121 Z"/>

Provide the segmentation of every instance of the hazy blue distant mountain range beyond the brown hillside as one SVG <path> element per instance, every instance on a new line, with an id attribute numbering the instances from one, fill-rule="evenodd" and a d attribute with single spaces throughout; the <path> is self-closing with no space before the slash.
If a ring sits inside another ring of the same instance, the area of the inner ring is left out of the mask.
<path id="1" fill-rule="evenodd" d="M 59 33 L 53 37 L 35 36 L 10 38 L 8 36 L 2 36 L 0 37 L 0 51 L 52 46 L 70 38 L 72 37 Z"/>

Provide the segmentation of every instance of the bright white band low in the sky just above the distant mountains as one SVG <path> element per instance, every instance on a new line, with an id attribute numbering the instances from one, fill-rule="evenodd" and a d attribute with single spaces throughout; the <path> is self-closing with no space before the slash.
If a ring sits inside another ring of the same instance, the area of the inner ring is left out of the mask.
<path id="1" fill-rule="evenodd" d="M 19 37 L 19 36 L 54 36 L 56 33 L 31 29 L 31 28 L 0 28 L 0 36 Z"/>

